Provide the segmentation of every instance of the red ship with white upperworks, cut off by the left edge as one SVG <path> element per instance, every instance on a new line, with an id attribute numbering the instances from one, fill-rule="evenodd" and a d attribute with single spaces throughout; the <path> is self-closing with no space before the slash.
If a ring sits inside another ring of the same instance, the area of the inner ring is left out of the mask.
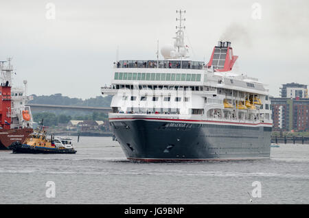
<path id="1" fill-rule="evenodd" d="M 8 149 L 16 141 L 23 143 L 33 132 L 30 107 L 25 106 L 25 102 L 31 99 L 25 95 L 27 81 L 24 81 L 25 90 L 12 88 L 10 60 L 8 65 L 5 65 L 6 61 L 0 61 L 0 149 Z"/>

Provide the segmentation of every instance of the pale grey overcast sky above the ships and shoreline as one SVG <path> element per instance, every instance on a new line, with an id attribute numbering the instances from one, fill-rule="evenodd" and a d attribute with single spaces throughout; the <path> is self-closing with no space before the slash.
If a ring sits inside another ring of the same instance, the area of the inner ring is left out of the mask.
<path id="1" fill-rule="evenodd" d="M 47 3 L 55 5 L 55 19 L 47 19 Z M 253 3 L 261 19 L 253 19 Z M 240 71 L 278 96 L 281 84 L 309 85 L 308 6 L 306 0 L 0 0 L 0 60 L 13 57 L 14 84 L 26 79 L 30 94 L 95 97 L 111 83 L 117 46 L 120 60 L 155 59 L 157 40 L 160 47 L 172 43 L 176 10 L 183 9 L 192 60 L 208 62 L 218 40 L 231 40 Z"/>

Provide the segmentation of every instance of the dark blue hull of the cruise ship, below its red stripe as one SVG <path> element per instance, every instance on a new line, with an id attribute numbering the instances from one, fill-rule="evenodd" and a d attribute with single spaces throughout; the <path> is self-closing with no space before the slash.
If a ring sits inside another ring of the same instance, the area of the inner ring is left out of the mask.
<path id="1" fill-rule="evenodd" d="M 134 160 L 269 158 L 271 127 L 169 121 L 110 120 L 126 157 Z M 222 122 L 223 123 L 223 122 Z"/>

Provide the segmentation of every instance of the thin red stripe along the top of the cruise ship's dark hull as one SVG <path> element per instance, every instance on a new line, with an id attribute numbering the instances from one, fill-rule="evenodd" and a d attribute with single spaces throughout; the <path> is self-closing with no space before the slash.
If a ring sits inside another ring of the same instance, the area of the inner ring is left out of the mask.
<path id="1" fill-rule="evenodd" d="M 273 123 L 236 123 L 236 122 L 227 122 L 227 121 L 205 121 L 205 120 L 194 120 L 194 119 L 164 119 L 164 118 L 150 118 L 150 117 L 115 117 L 109 118 L 109 120 L 124 120 L 124 119 L 148 119 L 148 120 L 159 120 L 159 121 L 186 121 L 186 122 L 205 122 L 205 123 L 229 123 L 229 124 L 242 124 L 242 125 L 273 125 Z"/>

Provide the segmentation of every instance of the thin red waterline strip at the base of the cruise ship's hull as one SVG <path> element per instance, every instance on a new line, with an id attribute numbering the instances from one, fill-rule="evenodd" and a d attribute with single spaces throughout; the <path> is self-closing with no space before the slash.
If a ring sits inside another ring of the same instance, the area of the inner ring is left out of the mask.
<path id="1" fill-rule="evenodd" d="M 256 158 L 207 158 L 207 159 L 151 159 L 151 158 L 127 158 L 128 160 L 144 161 L 144 162 L 180 162 L 180 161 L 230 161 L 230 160 L 260 160 L 269 159 L 269 157 Z"/>

